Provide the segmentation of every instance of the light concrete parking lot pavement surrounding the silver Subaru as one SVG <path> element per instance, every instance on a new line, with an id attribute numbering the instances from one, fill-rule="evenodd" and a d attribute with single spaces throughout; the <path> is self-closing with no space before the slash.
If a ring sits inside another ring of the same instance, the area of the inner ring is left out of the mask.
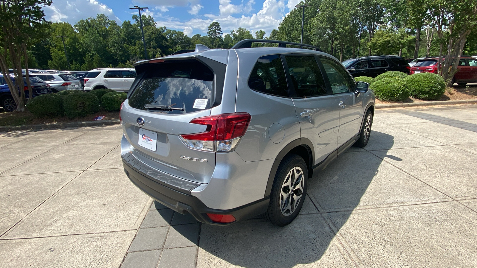
<path id="1" fill-rule="evenodd" d="M 119 125 L 0 133 L 0 267 L 477 267 L 477 104 L 376 110 L 287 227 L 165 208 Z"/>

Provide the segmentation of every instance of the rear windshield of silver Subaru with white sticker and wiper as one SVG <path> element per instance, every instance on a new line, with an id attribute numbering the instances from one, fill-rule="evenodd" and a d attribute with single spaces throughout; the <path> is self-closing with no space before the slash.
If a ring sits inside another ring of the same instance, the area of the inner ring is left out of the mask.
<path id="1" fill-rule="evenodd" d="M 158 113 L 191 113 L 210 108 L 214 73 L 196 60 L 165 62 L 147 69 L 129 97 L 129 105 L 166 105 L 181 110 L 151 110 Z"/>

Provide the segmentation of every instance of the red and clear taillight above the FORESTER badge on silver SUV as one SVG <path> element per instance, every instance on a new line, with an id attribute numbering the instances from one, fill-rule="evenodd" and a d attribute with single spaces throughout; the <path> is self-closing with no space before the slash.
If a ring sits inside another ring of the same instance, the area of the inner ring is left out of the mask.
<path id="1" fill-rule="evenodd" d="M 192 124 L 206 125 L 206 131 L 181 135 L 187 147 L 208 152 L 230 152 L 237 147 L 250 123 L 249 113 L 223 113 L 192 119 Z"/>

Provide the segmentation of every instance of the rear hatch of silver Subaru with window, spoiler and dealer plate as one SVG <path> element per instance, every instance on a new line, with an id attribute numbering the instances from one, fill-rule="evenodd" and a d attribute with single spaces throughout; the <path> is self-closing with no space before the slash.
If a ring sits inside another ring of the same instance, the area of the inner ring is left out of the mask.
<path id="1" fill-rule="evenodd" d="M 181 135 L 208 131 L 207 125 L 189 122 L 209 116 L 220 103 L 226 67 L 204 57 L 136 65 L 137 78 L 121 110 L 133 155 L 168 174 L 208 183 L 214 150 L 192 149 Z"/>

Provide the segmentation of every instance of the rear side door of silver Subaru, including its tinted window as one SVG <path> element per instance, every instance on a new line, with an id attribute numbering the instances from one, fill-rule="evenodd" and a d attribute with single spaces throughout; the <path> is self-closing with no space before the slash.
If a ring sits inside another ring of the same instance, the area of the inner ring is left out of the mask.
<path id="1" fill-rule="evenodd" d="M 314 55 L 285 55 L 284 59 L 301 137 L 311 140 L 316 165 L 337 149 L 340 107 Z"/>

